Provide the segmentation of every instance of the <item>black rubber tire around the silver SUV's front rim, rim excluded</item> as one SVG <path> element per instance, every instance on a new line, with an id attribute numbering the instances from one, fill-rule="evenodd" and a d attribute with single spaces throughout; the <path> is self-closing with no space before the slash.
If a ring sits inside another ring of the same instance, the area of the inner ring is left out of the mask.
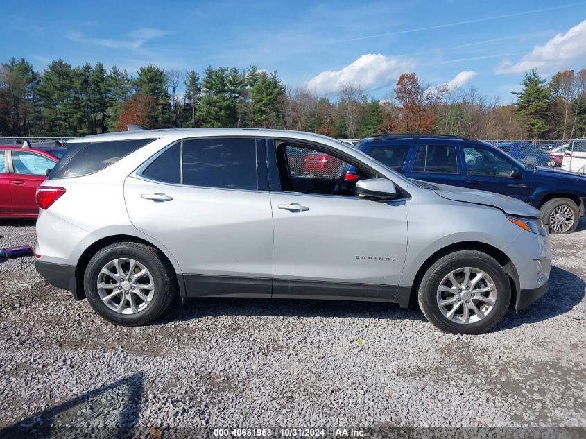
<path id="1" fill-rule="evenodd" d="M 464 267 L 482 270 L 492 278 L 497 287 L 494 307 L 482 320 L 476 322 L 455 322 L 442 313 L 438 304 L 438 288 L 442 279 L 453 270 Z M 451 334 L 483 334 L 488 332 L 505 315 L 510 298 L 510 283 L 503 267 L 489 255 L 476 250 L 460 250 L 438 259 L 423 275 L 417 292 L 420 309 L 427 320 L 440 331 Z"/>

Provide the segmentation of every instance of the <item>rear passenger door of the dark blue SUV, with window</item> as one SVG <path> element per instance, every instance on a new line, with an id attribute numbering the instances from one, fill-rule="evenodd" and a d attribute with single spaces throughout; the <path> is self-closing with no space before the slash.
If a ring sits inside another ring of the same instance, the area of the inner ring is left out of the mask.
<path id="1" fill-rule="evenodd" d="M 427 182 L 463 186 L 463 170 L 454 142 L 419 141 L 411 151 L 406 165 L 409 178 Z"/>

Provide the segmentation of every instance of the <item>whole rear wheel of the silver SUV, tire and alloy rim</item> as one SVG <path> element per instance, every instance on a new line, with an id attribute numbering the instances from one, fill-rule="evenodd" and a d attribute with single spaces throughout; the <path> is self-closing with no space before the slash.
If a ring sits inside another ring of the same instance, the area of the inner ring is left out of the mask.
<path id="1" fill-rule="evenodd" d="M 175 288 L 172 273 L 159 250 L 141 243 L 116 243 L 87 264 L 85 294 L 105 320 L 123 326 L 145 325 L 169 307 Z"/>

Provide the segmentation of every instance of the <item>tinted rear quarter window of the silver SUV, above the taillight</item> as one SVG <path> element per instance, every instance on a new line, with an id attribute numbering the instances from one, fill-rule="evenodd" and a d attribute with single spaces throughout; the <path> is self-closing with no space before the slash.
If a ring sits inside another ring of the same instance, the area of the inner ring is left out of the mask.
<path id="1" fill-rule="evenodd" d="M 155 139 L 93 141 L 67 144 L 67 153 L 49 174 L 49 178 L 71 178 L 101 171 L 122 157 Z"/>

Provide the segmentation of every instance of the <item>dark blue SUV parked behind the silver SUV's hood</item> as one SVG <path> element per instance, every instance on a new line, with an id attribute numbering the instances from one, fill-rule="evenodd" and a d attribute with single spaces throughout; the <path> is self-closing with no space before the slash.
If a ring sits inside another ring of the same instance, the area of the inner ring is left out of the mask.
<path id="1" fill-rule="evenodd" d="M 483 141 L 447 135 L 376 135 L 356 148 L 416 180 L 502 193 L 540 209 L 552 234 L 576 230 L 586 177 L 524 164 Z M 347 179 L 352 178 L 352 167 Z"/>

